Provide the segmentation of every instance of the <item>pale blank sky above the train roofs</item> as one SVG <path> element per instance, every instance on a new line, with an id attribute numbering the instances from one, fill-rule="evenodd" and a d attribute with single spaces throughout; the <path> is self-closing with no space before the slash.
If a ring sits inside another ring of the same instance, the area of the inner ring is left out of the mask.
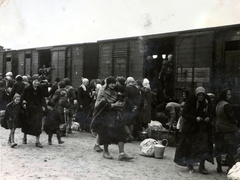
<path id="1" fill-rule="evenodd" d="M 240 0 L 0 0 L 0 46 L 24 49 L 240 23 Z"/>

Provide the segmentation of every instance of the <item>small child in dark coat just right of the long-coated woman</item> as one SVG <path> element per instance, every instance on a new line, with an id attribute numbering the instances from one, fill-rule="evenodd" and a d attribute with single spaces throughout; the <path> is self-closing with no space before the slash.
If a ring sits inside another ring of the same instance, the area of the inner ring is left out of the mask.
<path id="1" fill-rule="evenodd" d="M 48 134 L 48 144 L 52 145 L 52 136 L 54 133 L 57 134 L 58 144 L 64 143 L 60 137 L 61 115 L 54 109 L 55 104 L 49 101 L 47 104 L 46 121 L 44 124 L 44 130 Z"/>

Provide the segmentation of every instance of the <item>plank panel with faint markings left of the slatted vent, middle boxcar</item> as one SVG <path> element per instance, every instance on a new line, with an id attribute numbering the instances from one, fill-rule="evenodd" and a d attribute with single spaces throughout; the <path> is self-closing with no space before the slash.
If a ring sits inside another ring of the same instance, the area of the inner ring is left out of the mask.
<path id="1" fill-rule="evenodd" d="M 112 75 L 113 61 L 112 61 L 113 43 L 106 42 L 99 44 L 99 78 L 105 79 Z"/>

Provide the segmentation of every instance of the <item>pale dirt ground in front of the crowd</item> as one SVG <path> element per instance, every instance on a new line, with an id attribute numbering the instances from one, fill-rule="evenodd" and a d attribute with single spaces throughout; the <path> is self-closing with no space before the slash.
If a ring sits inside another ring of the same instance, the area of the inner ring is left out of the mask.
<path id="1" fill-rule="evenodd" d="M 134 160 L 118 161 L 118 147 L 109 146 L 112 160 L 104 159 L 102 153 L 94 152 L 95 138 L 87 132 L 73 131 L 68 138 L 62 138 L 64 144 L 58 145 L 54 135 L 53 145 L 47 144 L 45 132 L 41 135 L 43 148 L 35 147 L 35 137 L 28 136 L 28 144 L 22 144 L 22 133 L 16 130 L 18 146 L 10 148 L 7 140 L 9 131 L 0 128 L 1 180 L 79 180 L 79 179 L 138 179 L 138 180 L 225 180 L 224 173 L 216 172 L 216 165 L 206 163 L 208 175 L 189 173 L 186 167 L 173 162 L 174 147 L 166 147 L 164 158 L 140 156 L 140 142 L 125 144 L 125 151 L 134 156 Z"/>

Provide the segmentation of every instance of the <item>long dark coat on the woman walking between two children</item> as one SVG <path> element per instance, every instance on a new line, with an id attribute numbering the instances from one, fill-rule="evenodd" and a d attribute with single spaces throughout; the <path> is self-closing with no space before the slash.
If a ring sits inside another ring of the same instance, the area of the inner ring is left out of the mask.
<path id="1" fill-rule="evenodd" d="M 22 132 L 38 136 L 41 134 L 42 128 L 42 107 L 46 109 L 43 90 L 40 86 L 35 90 L 31 84 L 24 89 L 21 97 L 27 102 L 25 118 L 22 122 Z"/>

